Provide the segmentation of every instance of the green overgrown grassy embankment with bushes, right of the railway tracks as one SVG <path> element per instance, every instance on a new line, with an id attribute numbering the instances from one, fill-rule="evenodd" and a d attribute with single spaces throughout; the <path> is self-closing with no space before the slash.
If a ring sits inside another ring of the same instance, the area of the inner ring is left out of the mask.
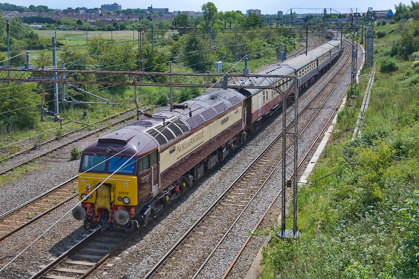
<path id="1" fill-rule="evenodd" d="M 389 38 L 377 39 L 380 71 L 362 137 L 351 141 L 361 94 L 338 114 L 333 142 L 310 182 L 333 174 L 299 189 L 300 238 L 273 235 L 261 279 L 419 278 L 419 62 L 406 61 L 417 60 L 419 45 L 399 43 L 408 33 L 416 42 L 417 26 L 411 19 L 379 27 Z M 362 93 L 367 83 L 361 78 Z"/>

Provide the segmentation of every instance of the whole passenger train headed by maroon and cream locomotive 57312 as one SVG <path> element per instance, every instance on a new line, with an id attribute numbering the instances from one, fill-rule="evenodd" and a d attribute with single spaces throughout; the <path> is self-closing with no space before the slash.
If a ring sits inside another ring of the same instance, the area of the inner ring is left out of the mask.
<path id="1" fill-rule="evenodd" d="M 257 74 L 298 75 L 304 89 L 340 56 L 342 47 L 341 40 L 331 40 Z M 285 78 L 263 85 L 295 89 Z M 146 225 L 281 104 L 274 90 L 217 89 L 100 137 L 82 151 L 82 202 L 73 217 L 84 220 L 86 228 L 111 225 L 130 230 Z"/>

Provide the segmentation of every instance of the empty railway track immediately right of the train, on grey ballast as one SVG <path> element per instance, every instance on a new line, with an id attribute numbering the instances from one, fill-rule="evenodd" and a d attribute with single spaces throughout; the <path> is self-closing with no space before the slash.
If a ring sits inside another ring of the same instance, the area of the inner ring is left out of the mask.
<path id="1" fill-rule="evenodd" d="M 334 77 L 339 76 L 341 79 L 342 71 L 346 72 L 350 51 L 347 51 L 346 63 L 335 73 Z M 332 77 L 327 84 L 334 84 L 335 79 Z M 305 123 L 300 137 L 306 127 L 309 126 L 326 104 L 327 99 L 333 91 L 327 91 L 326 86 L 316 94 L 320 97 L 323 92 L 330 92 L 326 96 L 320 98 L 312 98 L 310 102 L 301 110 L 298 119 L 309 121 Z M 316 113 L 313 114 L 313 110 Z M 302 122 L 302 121 L 301 121 Z M 301 123 L 300 122 L 300 123 Z M 293 123 L 287 127 L 287 131 L 293 131 Z M 243 215 L 246 209 L 250 207 L 253 200 L 263 187 L 267 184 L 272 174 L 280 166 L 280 152 L 282 146 L 282 137 L 278 135 L 268 147 L 257 157 L 251 165 L 234 181 L 227 190 L 211 205 L 211 207 L 201 216 L 201 218 L 184 234 L 184 236 L 167 252 L 167 254 L 149 271 L 144 279 L 153 278 L 197 278 L 200 272 L 206 267 L 211 256 L 220 247 L 222 241 L 229 235 L 233 234 L 234 226 Z M 289 149 L 291 146 L 287 146 Z M 255 177 L 257 177 L 255 179 Z M 279 196 L 280 191 L 276 195 Z M 275 200 L 275 199 L 274 199 Z M 273 204 L 274 201 L 271 202 Z M 225 214 L 228 212 L 228 214 Z M 261 221 L 259 221 L 260 223 Z M 257 227 L 256 227 L 257 228 Z M 234 232 L 234 235 L 239 233 Z M 200 249 L 197 249 L 199 247 Z M 211 250 L 212 249 L 212 250 Z M 221 252 L 220 252 L 221 253 Z M 187 265 L 179 265 L 179 259 L 188 263 Z M 187 269 L 185 270 L 185 266 Z"/>

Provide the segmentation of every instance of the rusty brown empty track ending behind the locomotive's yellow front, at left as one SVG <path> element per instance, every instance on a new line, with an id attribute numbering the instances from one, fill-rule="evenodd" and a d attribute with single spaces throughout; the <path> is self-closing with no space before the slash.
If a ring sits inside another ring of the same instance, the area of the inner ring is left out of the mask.
<path id="1" fill-rule="evenodd" d="M 0 242 L 78 197 L 77 176 L 0 216 Z"/>

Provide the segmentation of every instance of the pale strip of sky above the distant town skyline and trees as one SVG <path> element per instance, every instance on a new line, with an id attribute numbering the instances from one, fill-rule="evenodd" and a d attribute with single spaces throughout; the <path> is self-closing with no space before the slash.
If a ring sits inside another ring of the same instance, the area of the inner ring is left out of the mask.
<path id="1" fill-rule="evenodd" d="M 262 14 L 276 14 L 278 10 L 283 13 L 289 13 L 289 9 L 297 13 L 321 13 L 323 8 L 332 8 L 338 12 L 351 12 L 351 8 L 355 11 L 366 12 L 368 7 L 373 10 L 392 9 L 395 12 L 395 4 L 400 2 L 410 5 L 411 0 L 116 0 L 122 5 L 122 9 L 126 8 L 143 8 L 146 9 L 151 4 L 154 8 L 169 8 L 169 11 L 175 10 L 193 10 L 201 11 L 201 6 L 207 2 L 213 2 L 218 11 L 240 10 L 246 13 L 246 9 L 260 9 Z M 100 7 L 102 4 L 113 4 L 115 0 L 13 0 L 9 3 L 15 5 L 46 5 L 49 8 L 65 9 L 67 7 Z"/>

